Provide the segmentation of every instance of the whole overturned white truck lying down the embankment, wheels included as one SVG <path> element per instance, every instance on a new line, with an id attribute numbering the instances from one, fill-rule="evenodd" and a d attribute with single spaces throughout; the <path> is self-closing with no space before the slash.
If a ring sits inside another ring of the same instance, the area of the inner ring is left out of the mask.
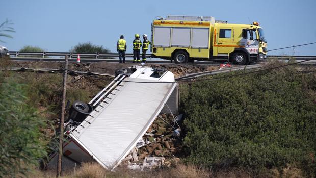
<path id="1" fill-rule="evenodd" d="M 62 167 L 97 161 L 113 170 L 135 147 L 160 113 L 178 112 L 178 87 L 164 69 L 134 66 L 116 78 L 88 104 L 74 102 L 65 124 Z M 48 168 L 56 168 L 58 154 Z"/>

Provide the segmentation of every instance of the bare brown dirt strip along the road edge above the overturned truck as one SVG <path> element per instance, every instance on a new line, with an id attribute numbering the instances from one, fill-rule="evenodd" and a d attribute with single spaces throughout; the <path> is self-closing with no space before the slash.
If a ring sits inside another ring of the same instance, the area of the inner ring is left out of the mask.
<path id="1" fill-rule="evenodd" d="M 78 70 L 78 71 L 90 71 L 90 72 L 100 72 L 114 74 L 116 69 L 126 68 L 134 66 L 135 64 L 125 63 L 109 63 L 109 62 L 97 62 L 97 63 L 69 63 L 69 70 Z M 139 64 L 138 64 L 139 65 Z M 11 67 L 24 67 L 24 68 L 52 68 L 52 69 L 63 69 L 63 62 L 17 62 L 12 61 Z M 219 66 L 207 66 L 199 64 L 146 64 L 146 67 L 153 68 L 164 68 L 171 71 L 175 78 L 181 77 L 182 75 L 188 73 L 202 72 L 202 71 L 211 71 L 219 69 Z"/>

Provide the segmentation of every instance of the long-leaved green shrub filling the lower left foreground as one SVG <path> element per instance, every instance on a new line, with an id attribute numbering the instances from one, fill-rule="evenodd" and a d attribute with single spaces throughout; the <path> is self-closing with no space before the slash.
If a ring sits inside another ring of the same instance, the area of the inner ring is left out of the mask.
<path id="1" fill-rule="evenodd" d="M 41 128 L 46 127 L 37 111 L 25 104 L 25 85 L 13 78 L 2 79 L 0 85 L 0 177 L 24 174 L 30 165 L 47 153 Z"/>

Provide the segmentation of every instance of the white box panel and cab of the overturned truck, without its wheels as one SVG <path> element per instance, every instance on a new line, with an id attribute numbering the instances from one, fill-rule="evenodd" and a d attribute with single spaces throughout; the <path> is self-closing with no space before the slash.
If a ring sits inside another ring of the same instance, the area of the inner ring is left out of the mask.
<path id="1" fill-rule="evenodd" d="M 137 69 L 127 81 L 174 81 L 167 71 L 151 77 L 151 68 Z M 101 165 L 114 169 L 145 134 L 167 102 L 176 83 L 122 82 L 119 91 L 101 103 L 70 135 Z M 89 123 L 88 123 L 89 122 Z"/>

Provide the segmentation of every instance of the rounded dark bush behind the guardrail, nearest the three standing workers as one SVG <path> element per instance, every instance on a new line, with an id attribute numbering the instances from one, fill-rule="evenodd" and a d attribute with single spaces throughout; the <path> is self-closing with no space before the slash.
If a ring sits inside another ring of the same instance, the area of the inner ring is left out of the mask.
<path id="1" fill-rule="evenodd" d="M 95 45 L 91 42 L 79 43 L 71 48 L 72 53 L 111 53 L 110 49 L 104 48 L 102 45 Z"/>

